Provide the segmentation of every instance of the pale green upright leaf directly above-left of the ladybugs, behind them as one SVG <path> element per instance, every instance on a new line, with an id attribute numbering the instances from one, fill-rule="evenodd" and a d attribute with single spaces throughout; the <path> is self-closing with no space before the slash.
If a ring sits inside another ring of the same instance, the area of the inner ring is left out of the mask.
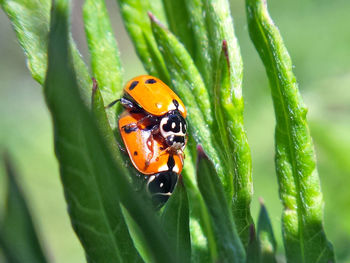
<path id="1" fill-rule="evenodd" d="M 83 7 L 84 25 L 91 66 L 107 104 L 120 98 L 123 92 L 122 67 L 104 0 L 86 0 Z M 115 108 L 107 109 L 110 125 L 115 128 Z"/>

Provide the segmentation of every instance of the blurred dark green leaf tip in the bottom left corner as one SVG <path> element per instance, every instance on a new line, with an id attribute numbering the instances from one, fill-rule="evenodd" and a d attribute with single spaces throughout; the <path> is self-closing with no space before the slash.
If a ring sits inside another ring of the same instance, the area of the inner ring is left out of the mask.
<path id="1" fill-rule="evenodd" d="M 4 156 L 7 174 L 7 200 L 0 218 L 0 248 L 8 262 L 47 262 L 36 233 L 25 196 L 18 185 L 18 175 Z"/>

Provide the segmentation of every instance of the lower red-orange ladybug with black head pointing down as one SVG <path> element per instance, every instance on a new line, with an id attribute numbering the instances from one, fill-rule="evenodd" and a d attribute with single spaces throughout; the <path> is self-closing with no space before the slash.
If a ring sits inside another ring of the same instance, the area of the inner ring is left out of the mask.
<path id="1" fill-rule="evenodd" d="M 154 202 L 164 204 L 182 171 L 183 155 L 167 151 L 161 136 L 151 136 L 150 121 L 143 121 L 143 113 L 124 111 L 118 126 L 127 153 L 134 167 L 147 179 L 147 190 Z"/>

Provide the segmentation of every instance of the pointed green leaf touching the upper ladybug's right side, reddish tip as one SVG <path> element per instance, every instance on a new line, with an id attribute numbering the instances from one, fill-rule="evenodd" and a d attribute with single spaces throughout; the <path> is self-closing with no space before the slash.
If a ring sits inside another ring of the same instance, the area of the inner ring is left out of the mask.
<path id="1" fill-rule="evenodd" d="M 184 101 L 188 111 L 189 133 L 193 136 L 197 144 L 202 144 L 210 157 L 219 165 L 219 159 L 216 150 L 213 148 L 211 135 L 207 123 L 212 123 L 212 112 L 209 103 L 208 92 L 205 89 L 203 80 L 195 67 L 193 60 L 187 53 L 184 46 L 176 37 L 165 29 L 154 16 L 152 20 L 152 29 L 159 50 L 161 50 L 167 68 L 172 79 L 172 88 Z M 191 138 L 189 139 L 191 141 Z M 188 147 L 195 147 L 192 143 Z M 194 150 L 191 149 L 191 152 Z M 220 175 L 223 173 L 221 172 Z M 225 186 L 232 189 L 231 181 L 225 181 Z"/>

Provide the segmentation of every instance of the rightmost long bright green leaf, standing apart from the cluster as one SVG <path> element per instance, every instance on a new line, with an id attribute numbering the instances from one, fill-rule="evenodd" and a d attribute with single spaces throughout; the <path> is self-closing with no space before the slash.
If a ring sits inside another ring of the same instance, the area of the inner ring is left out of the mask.
<path id="1" fill-rule="evenodd" d="M 292 62 L 266 2 L 247 0 L 250 37 L 265 65 L 276 117 L 276 172 L 284 206 L 288 262 L 334 262 L 323 229 L 323 197 L 315 151 Z"/>

